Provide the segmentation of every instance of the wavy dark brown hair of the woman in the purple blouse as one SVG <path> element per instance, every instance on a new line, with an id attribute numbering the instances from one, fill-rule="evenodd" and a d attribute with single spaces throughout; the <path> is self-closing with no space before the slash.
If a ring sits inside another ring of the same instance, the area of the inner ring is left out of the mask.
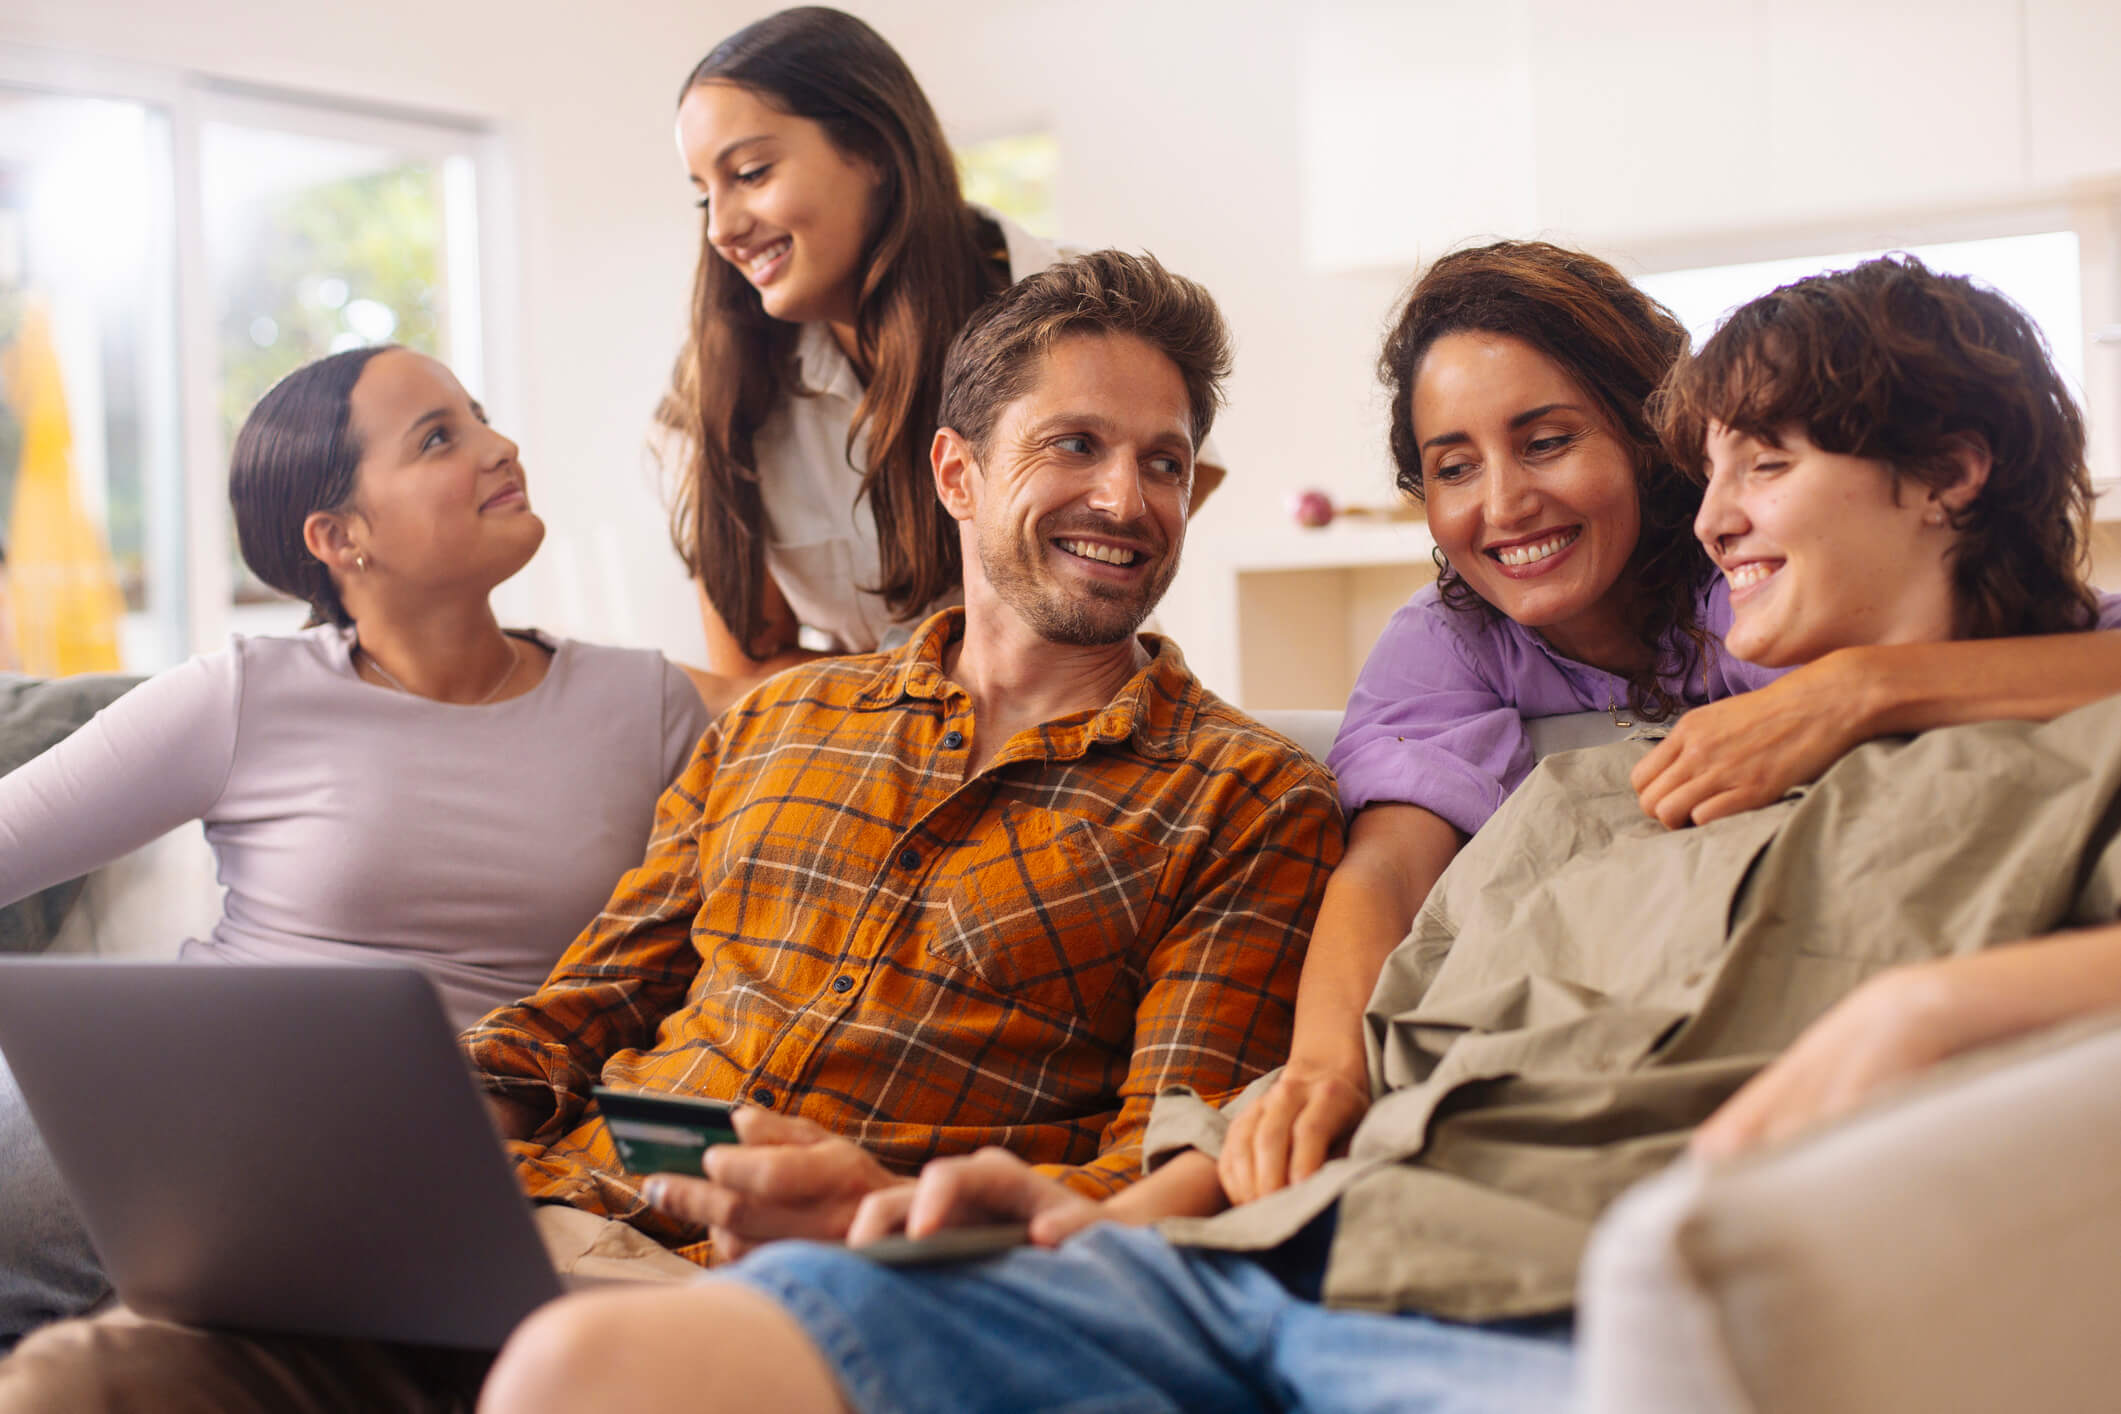
<path id="1" fill-rule="evenodd" d="M 1686 683 L 1707 655 L 1699 594 L 1710 575 L 1695 541 L 1701 488 L 1665 456 L 1644 403 L 1686 350 L 1686 329 L 1627 276 L 1582 250 L 1548 242 L 1493 242 L 1453 250 L 1406 290 L 1385 335 L 1377 377 L 1391 396 L 1391 460 L 1398 488 L 1425 498 L 1415 435 L 1415 379 L 1430 348 L 1453 333 L 1523 339 L 1553 358 L 1606 416 L 1635 466 L 1642 534 L 1623 575 L 1635 594 L 1635 636 L 1648 664 L 1627 678 L 1629 706 L 1650 721 L 1684 702 L 1667 683 Z M 1500 617 L 1438 555 L 1444 604 Z"/>

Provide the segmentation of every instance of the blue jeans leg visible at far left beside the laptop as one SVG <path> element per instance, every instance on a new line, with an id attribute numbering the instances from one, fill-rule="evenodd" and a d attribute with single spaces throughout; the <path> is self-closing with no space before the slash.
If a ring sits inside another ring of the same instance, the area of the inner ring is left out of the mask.
<path id="1" fill-rule="evenodd" d="M 0 1062 L 0 1355 L 110 1291 L 15 1077 Z"/>

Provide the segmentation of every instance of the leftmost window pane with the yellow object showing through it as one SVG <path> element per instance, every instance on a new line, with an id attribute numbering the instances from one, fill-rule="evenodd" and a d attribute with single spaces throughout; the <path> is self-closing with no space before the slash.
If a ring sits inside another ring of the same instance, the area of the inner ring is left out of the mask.
<path id="1" fill-rule="evenodd" d="M 170 218 L 155 108 L 0 83 L 0 545 L 30 672 L 185 649 Z"/>

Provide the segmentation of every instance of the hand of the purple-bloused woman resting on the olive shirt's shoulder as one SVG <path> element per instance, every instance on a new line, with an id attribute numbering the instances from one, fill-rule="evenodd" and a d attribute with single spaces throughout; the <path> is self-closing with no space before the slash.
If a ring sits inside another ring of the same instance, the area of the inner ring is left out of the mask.
<path id="1" fill-rule="evenodd" d="M 1699 706 L 1635 763 L 1629 784 L 1667 829 L 1758 810 L 1869 740 L 1850 659 L 1826 655 L 1767 687 Z"/>

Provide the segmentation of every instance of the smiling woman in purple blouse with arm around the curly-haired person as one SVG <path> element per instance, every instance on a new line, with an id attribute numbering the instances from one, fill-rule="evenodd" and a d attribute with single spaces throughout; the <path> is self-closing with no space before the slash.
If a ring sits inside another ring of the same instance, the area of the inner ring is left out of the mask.
<path id="1" fill-rule="evenodd" d="M 1364 1003 L 1444 865 L 1531 772 L 1527 721 L 1688 712 L 1633 780 L 1684 827 L 1773 801 L 1877 736 L 2045 721 L 2121 691 L 2113 632 L 1843 649 L 1786 676 L 1724 655 L 1701 492 L 1644 413 L 1684 350 L 1620 271 L 1544 242 L 1453 252 L 1408 293 L 1379 375 L 1440 575 L 1370 651 L 1330 755 L 1347 856 L 1290 1064 L 1222 1153 L 1234 1202 L 1317 1170 L 1368 1109 Z M 2100 623 L 2121 625 L 2121 600 Z"/>

